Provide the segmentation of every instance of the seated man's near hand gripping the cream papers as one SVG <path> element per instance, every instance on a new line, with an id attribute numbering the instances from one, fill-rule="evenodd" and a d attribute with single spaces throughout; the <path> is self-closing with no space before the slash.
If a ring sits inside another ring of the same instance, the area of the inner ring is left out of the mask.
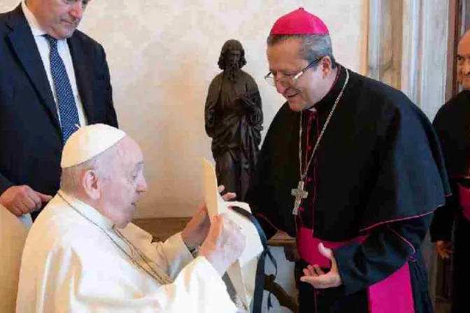
<path id="1" fill-rule="evenodd" d="M 222 276 L 230 264 L 241 256 L 245 245 L 245 235 L 241 228 L 225 214 L 220 214 L 213 217 L 199 255 L 204 256 Z"/>

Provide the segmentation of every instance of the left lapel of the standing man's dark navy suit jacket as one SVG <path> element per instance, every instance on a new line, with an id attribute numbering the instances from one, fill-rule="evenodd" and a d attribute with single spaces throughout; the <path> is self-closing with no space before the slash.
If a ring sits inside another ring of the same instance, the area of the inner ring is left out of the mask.
<path id="1" fill-rule="evenodd" d="M 50 113 L 50 117 L 60 133 L 59 117 L 57 116 L 57 108 L 54 97 L 52 96 L 52 91 L 50 90 L 48 76 L 45 73 L 43 60 L 41 59 L 38 47 L 34 41 L 26 17 L 24 17 L 21 6 L 13 10 L 8 20 L 8 25 L 12 29 L 10 34 L 8 34 L 8 40 L 18 59 L 20 59 L 24 71 L 27 73 L 36 92 L 41 98 L 42 101 L 40 102 L 45 105 L 46 110 Z"/>

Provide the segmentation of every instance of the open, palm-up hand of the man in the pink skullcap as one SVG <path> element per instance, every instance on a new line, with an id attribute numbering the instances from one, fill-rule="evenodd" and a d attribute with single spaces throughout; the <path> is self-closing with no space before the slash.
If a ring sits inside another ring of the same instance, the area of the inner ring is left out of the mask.
<path id="1" fill-rule="evenodd" d="M 318 265 L 308 265 L 307 268 L 304 268 L 304 275 L 300 277 L 301 282 L 308 282 L 316 289 L 327 289 L 337 286 L 341 286 L 343 282 L 341 281 L 341 276 L 339 275 L 338 265 L 334 259 L 332 249 L 328 249 L 322 243 L 318 245 L 318 250 L 320 253 L 332 261 L 332 268 L 329 272 L 325 273 L 322 271 Z"/>

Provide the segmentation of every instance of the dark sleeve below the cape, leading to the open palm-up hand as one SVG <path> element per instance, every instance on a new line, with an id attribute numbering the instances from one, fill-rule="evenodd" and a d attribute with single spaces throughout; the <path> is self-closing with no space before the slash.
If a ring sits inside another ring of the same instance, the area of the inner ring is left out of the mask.
<path id="1" fill-rule="evenodd" d="M 432 214 L 373 228 L 364 242 L 334 249 L 343 290 L 366 289 L 399 270 L 419 249 Z"/>

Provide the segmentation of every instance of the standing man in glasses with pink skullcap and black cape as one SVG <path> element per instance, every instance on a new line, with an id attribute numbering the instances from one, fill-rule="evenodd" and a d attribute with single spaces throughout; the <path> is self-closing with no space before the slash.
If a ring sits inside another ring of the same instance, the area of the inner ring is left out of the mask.
<path id="1" fill-rule="evenodd" d="M 439 143 L 401 92 L 337 63 L 303 8 L 267 39 L 287 103 L 246 201 L 266 235 L 297 238 L 300 312 L 432 312 L 420 245 L 449 192 Z"/>

